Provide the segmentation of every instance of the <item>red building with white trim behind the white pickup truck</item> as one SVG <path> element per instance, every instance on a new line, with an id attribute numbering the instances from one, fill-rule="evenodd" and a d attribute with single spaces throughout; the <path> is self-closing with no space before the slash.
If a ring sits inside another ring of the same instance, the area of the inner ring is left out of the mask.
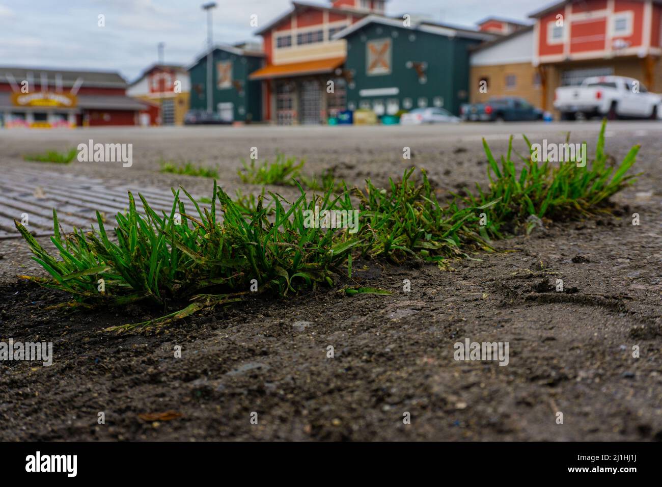
<path id="1" fill-rule="evenodd" d="M 662 1 L 566 0 L 532 14 L 544 108 L 589 76 L 630 76 L 662 91 Z"/>

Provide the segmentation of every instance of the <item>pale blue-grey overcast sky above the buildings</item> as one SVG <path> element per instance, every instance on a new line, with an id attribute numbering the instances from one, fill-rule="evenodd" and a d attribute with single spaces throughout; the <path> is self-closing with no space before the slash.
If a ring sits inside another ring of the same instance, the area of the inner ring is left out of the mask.
<path id="1" fill-rule="evenodd" d="M 102 69 L 133 81 L 158 60 L 189 65 L 207 38 L 202 0 L 0 0 L 0 66 Z M 214 42 L 260 40 L 250 16 L 265 25 L 290 0 L 216 0 Z M 329 5 L 325 0 L 307 3 Z M 387 15 L 424 14 L 436 21 L 473 26 L 496 15 L 526 20 L 550 0 L 390 0 Z M 105 27 L 97 18 L 105 16 Z"/>

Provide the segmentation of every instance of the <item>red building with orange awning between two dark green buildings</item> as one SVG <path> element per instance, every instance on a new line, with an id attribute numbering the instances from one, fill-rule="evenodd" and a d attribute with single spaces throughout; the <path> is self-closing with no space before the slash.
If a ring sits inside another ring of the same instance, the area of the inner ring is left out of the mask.
<path id="1" fill-rule="evenodd" d="M 293 1 L 257 33 L 266 64 L 250 75 L 263 81 L 264 119 L 281 125 L 320 123 L 344 109 L 346 40 L 332 39 L 366 15 L 383 15 L 385 0 L 332 0 L 328 7 Z M 334 81 L 333 93 L 327 83 Z"/>

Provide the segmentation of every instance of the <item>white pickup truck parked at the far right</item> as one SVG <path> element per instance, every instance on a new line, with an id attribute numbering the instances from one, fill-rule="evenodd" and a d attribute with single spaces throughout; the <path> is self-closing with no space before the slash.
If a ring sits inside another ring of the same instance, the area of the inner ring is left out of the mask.
<path id="1" fill-rule="evenodd" d="M 554 107 L 561 112 L 561 120 L 657 119 L 662 115 L 661 101 L 661 95 L 649 93 L 638 80 L 624 76 L 587 78 L 579 86 L 562 86 L 554 93 Z"/>

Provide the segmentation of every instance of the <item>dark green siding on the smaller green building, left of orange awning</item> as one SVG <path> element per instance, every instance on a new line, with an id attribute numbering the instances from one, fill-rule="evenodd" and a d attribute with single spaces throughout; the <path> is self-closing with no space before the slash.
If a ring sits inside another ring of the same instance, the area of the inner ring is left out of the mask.
<path id="1" fill-rule="evenodd" d="M 232 86 L 218 89 L 216 62 L 232 61 L 232 80 L 242 81 L 244 92 L 242 95 Z M 224 50 L 214 50 L 212 79 L 213 79 L 213 111 L 217 111 L 218 103 L 232 103 L 234 105 L 235 121 L 262 120 L 262 87 L 260 81 L 249 81 L 248 75 L 260 69 L 262 58 L 257 56 L 240 56 Z M 191 76 L 191 109 L 207 109 L 207 57 L 203 57 L 197 64 L 189 69 Z M 198 91 L 196 87 L 201 87 Z M 242 113 L 243 108 L 243 113 Z"/>

